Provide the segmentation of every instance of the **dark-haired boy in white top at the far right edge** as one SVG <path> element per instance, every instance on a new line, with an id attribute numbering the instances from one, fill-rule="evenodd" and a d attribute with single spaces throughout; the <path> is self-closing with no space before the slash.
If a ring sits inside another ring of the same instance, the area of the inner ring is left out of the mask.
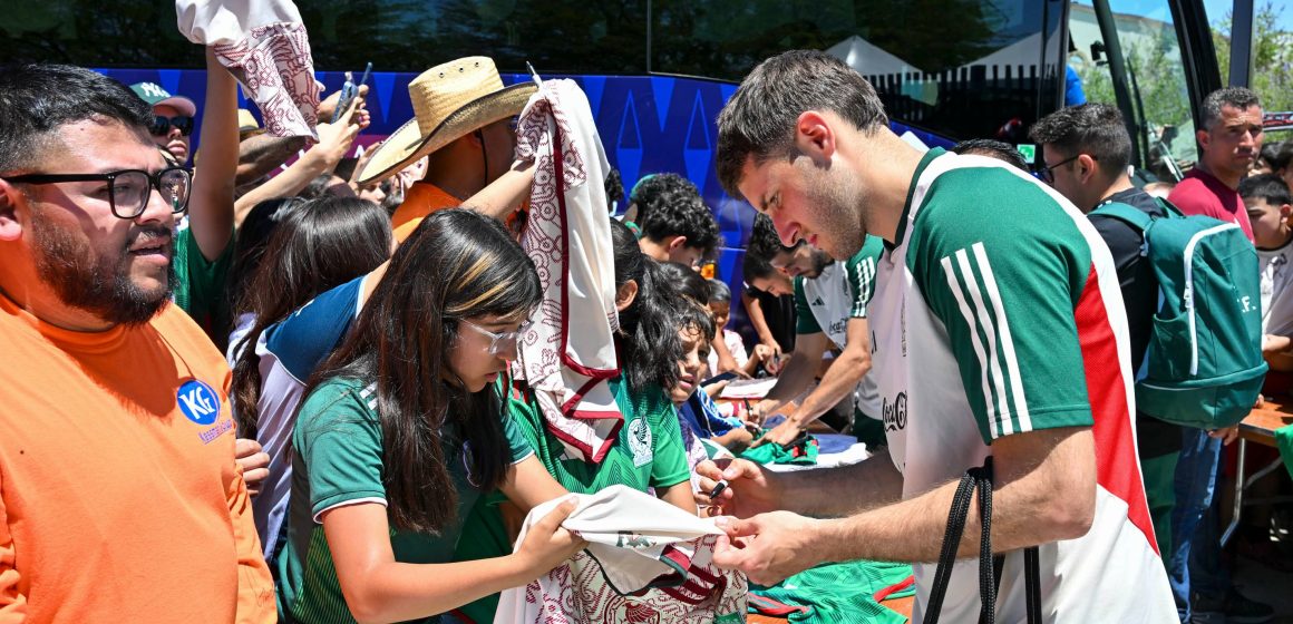
<path id="1" fill-rule="evenodd" d="M 1275 371 L 1293 371 L 1293 199 L 1289 187 L 1274 173 L 1262 173 L 1239 183 L 1239 194 L 1253 224 L 1258 266 L 1262 271 L 1262 354 Z"/>

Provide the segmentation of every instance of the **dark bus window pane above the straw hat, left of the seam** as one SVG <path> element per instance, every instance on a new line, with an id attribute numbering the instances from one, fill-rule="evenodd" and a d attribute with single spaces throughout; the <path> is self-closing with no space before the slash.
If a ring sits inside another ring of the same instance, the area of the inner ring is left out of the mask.
<path id="1" fill-rule="evenodd" d="M 202 49 L 176 28 L 173 3 L 94 0 L 8 3 L 0 58 L 88 67 L 203 66 Z M 335 0 L 297 1 L 314 67 L 422 72 L 467 56 L 503 71 L 644 74 L 646 9 L 636 0 Z"/>

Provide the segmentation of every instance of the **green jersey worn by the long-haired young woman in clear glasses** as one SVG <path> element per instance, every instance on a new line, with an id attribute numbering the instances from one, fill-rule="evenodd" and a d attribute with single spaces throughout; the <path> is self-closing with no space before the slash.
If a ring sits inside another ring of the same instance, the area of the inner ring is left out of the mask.
<path id="1" fill-rule="evenodd" d="M 512 463 L 533 451 L 509 419 L 503 429 Z M 292 433 L 292 497 L 287 545 L 278 558 L 278 606 L 300 623 L 352 623 L 337 584 L 332 554 L 319 517 L 328 509 L 359 503 L 387 504 L 381 477 L 381 421 L 371 385 L 331 379 L 301 403 Z M 463 523 L 481 491 L 471 484 L 464 452 L 451 430 L 442 434 L 445 461 L 458 494 L 456 519 L 436 535 L 392 527 L 390 548 L 403 563 L 447 563 L 454 559 Z M 437 621 L 431 618 L 428 621 Z"/>

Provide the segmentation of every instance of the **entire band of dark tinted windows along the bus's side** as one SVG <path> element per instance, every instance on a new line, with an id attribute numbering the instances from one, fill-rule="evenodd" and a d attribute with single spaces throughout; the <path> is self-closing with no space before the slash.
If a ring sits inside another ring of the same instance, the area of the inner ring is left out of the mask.
<path id="1" fill-rule="evenodd" d="M 504 72 L 740 81 L 787 49 L 829 50 L 890 115 L 949 140 L 1027 142 L 1060 103 L 1067 0 L 336 0 L 297 3 L 314 67 L 420 72 L 486 54 Z M 13 4 L 13 3 L 10 3 Z M 0 58 L 91 67 L 202 67 L 155 0 L 17 3 Z"/>

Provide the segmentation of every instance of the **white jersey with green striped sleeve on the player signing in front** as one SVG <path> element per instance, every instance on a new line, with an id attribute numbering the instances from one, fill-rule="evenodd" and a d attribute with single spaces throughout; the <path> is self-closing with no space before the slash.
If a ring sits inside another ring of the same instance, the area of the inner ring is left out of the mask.
<path id="1" fill-rule="evenodd" d="M 1095 517 L 1085 536 L 1041 544 L 1042 619 L 1175 621 L 1135 455 L 1122 293 L 1086 217 L 1025 172 L 932 150 L 877 284 L 868 318 L 904 497 L 981 465 L 1003 437 L 1089 428 Z M 919 620 L 935 566 L 913 568 Z M 1023 556 L 1009 553 L 998 616 L 1021 621 L 1024 602 Z M 963 561 L 943 618 L 978 616 L 978 561 Z"/>

